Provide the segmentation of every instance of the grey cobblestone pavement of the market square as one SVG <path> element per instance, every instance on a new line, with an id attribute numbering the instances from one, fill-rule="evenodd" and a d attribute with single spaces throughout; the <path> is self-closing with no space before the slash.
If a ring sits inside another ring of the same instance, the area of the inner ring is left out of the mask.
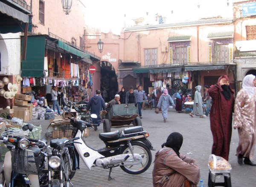
<path id="1" fill-rule="evenodd" d="M 201 179 L 204 180 L 205 186 L 208 182 L 208 158 L 212 148 L 212 133 L 210 130 L 209 117 L 204 119 L 195 116 L 191 118 L 188 113 L 176 113 L 175 109 L 171 109 L 168 113 L 167 122 L 163 122 L 161 113 L 156 114 L 154 110 L 142 111 L 142 124 L 145 130 L 148 131 L 148 139 L 153 147 L 160 149 L 161 144 L 166 141 L 167 137 L 172 132 L 179 132 L 183 135 L 183 145 L 180 153 L 188 154 L 191 158 L 198 162 L 200 167 Z M 33 120 L 33 123 L 42 125 L 45 129 L 48 126 L 48 120 Z M 111 131 L 117 129 L 111 129 Z M 119 128 L 118 130 L 121 130 Z M 42 135 L 46 130 L 42 132 Z M 85 141 L 90 147 L 101 148 L 104 143 L 99 139 L 99 133 L 103 132 L 103 124 L 98 127 L 97 131 L 90 129 L 90 136 L 85 138 Z M 256 167 L 248 165 L 239 165 L 237 163 L 236 147 L 238 145 L 237 130 L 233 130 L 230 144 L 229 162 L 232 166 L 231 181 L 232 187 L 255 187 L 256 186 Z M 151 151 L 153 160 L 156 151 Z M 255 159 L 256 161 L 256 159 Z M 140 175 L 130 175 L 125 173 L 120 167 L 113 168 L 111 176 L 115 180 L 108 181 L 109 170 L 102 168 L 91 168 L 88 170 L 84 163 L 80 162 L 80 170 L 76 171 L 76 175 L 71 180 L 74 187 L 152 187 L 152 170 L 154 163 L 147 171 Z M 218 181 L 224 181 L 222 178 L 217 178 Z"/>

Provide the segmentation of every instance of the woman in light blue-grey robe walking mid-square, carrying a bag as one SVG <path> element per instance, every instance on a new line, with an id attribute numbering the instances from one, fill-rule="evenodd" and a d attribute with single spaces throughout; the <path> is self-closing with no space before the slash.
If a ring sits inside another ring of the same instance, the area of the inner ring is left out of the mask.
<path id="1" fill-rule="evenodd" d="M 163 94 L 160 96 L 160 99 L 157 104 L 157 108 L 161 108 L 163 121 L 166 122 L 167 115 L 168 115 L 168 108 L 172 104 L 175 106 L 172 97 L 168 94 L 168 90 L 165 88 L 163 89 Z M 159 110 L 160 111 L 160 110 Z"/>

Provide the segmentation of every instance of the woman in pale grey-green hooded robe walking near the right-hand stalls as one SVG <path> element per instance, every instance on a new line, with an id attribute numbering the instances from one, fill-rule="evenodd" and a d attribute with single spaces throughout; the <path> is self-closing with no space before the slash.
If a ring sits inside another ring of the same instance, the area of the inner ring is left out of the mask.
<path id="1" fill-rule="evenodd" d="M 193 117 L 193 114 L 195 114 L 196 116 L 200 116 L 200 118 L 204 118 L 201 88 L 202 88 L 202 86 L 200 86 L 200 85 L 195 87 L 196 91 L 195 91 L 193 111 L 191 113 L 189 113 L 189 116 L 191 116 L 191 117 Z"/>

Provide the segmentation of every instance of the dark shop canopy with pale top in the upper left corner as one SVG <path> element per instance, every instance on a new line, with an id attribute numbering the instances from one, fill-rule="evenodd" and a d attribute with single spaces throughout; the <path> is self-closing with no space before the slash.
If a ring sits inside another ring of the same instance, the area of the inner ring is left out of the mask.
<path id="1" fill-rule="evenodd" d="M 29 23 L 29 15 L 24 14 L 11 6 L 0 2 L 0 33 L 17 33 L 24 32 L 25 23 Z M 29 24 L 28 31 L 31 31 L 32 27 Z"/>

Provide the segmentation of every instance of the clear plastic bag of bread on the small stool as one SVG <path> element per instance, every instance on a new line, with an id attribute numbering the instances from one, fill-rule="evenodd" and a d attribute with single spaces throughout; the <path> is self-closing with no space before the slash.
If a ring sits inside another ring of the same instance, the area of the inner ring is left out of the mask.
<path id="1" fill-rule="evenodd" d="M 208 166 L 210 170 L 231 170 L 230 163 L 223 159 L 221 156 L 215 156 L 214 154 L 209 156 Z"/>

